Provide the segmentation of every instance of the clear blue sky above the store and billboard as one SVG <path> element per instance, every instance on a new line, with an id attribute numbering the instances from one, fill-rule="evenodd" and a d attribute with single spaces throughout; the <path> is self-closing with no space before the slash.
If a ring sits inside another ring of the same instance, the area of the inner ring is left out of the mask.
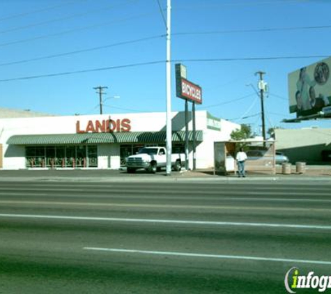
<path id="1" fill-rule="evenodd" d="M 48 114 L 166 111 L 167 0 L 0 0 L 0 107 Z M 175 63 L 202 88 L 197 110 L 261 134 L 259 77 L 269 127 L 282 123 L 288 73 L 331 55 L 331 1 L 172 0 L 171 110 Z M 191 106 L 190 106 L 191 107 Z"/>

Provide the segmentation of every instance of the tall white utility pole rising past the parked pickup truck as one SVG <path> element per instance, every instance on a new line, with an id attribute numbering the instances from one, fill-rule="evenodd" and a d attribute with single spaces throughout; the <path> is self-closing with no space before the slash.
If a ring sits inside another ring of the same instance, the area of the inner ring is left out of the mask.
<path id="1" fill-rule="evenodd" d="M 171 175 L 171 0 L 167 0 L 167 176 Z"/>

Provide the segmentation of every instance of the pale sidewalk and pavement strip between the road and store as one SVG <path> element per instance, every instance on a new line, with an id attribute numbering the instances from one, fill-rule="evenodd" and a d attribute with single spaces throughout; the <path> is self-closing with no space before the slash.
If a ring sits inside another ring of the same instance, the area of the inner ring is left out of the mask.
<path id="1" fill-rule="evenodd" d="M 197 171 L 171 172 L 167 176 L 165 171 L 159 173 L 148 173 L 137 171 L 127 173 L 125 170 L 105 170 L 105 169 L 75 169 L 75 170 L 0 170 L 0 181 L 86 181 L 86 182 L 114 182 L 114 181 L 134 181 L 134 182 L 157 182 L 157 181 L 199 181 L 199 182 L 251 182 L 251 181 L 323 181 L 331 183 L 331 165 L 317 166 L 310 165 L 305 169 L 305 173 L 296 173 L 295 166 L 292 167 L 291 174 L 282 174 L 282 167 L 277 167 L 276 174 L 247 172 L 246 178 L 238 178 L 233 173 L 227 176 L 214 175 L 212 169 L 201 169 Z"/>

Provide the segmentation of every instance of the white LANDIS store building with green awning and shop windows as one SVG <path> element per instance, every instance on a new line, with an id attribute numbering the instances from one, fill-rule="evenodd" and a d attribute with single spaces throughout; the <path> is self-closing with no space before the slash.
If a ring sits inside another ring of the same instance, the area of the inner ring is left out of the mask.
<path id="1" fill-rule="evenodd" d="M 189 167 L 193 167 L 192 113 Z M 166 145 L 166 113 L 0 118 L 1 169 L 119 169 L 142 146 Z M 240 125 L 196 111 L 197 169 L 213 167 L 214 141 Z M 185 148 L 185 113 L 172 113 L 173 153 Z"/>

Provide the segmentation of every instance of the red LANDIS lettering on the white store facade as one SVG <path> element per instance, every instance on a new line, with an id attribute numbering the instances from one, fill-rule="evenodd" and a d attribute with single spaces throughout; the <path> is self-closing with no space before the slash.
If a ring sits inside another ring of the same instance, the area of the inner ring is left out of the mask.
<path id="1" fill-rule="evenodd" d="M 131 121 L 128 118 L 116 119 L 107 119 L 103 121 L 88 121 L 87 125 L 81 125 L 80 121 L 76 123 L 76 132 L 85 133 L 85 132 L 130 132 L 131 130 Z"/>

